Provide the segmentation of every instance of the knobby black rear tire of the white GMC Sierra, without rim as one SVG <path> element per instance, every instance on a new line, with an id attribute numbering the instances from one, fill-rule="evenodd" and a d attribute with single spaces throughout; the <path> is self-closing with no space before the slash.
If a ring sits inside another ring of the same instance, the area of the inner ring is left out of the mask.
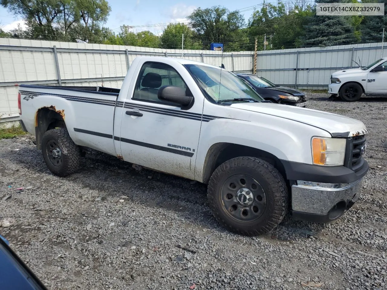
<path id="1" fill-rule="evenodd" d="M 61 151 L 61 164 L 58 166 L 51 163 L 47 144 L 48 142 L 56 142 Z M 42 137 L 41 150 L 43 159 L 50 171 L 57 176 L 67 176 L 76 172 L 82 167 L 82 156 L 79 146 L 75 145 L 73 140 L 68 135 L 65 128 L 57 128 L 46 131 Z"/>

